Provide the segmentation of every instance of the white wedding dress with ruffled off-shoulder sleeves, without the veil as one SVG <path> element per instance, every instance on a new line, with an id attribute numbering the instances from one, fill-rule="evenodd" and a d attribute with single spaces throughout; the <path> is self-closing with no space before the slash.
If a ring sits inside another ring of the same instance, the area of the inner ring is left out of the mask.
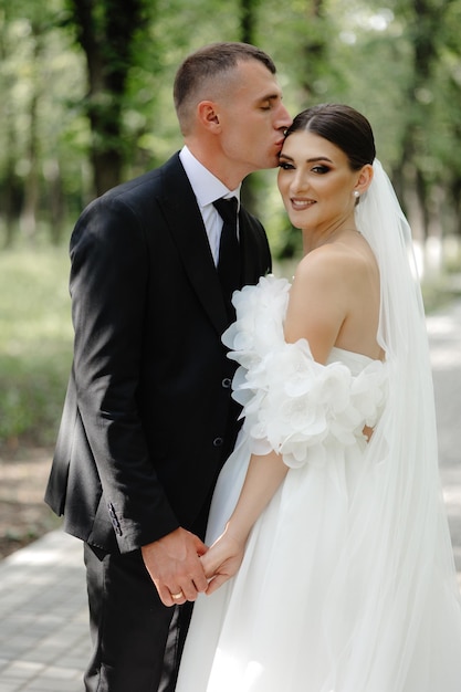
<path id="1" fill-rule="evenodd" d="M 223 337 L 241 366 L 234 387 L 245 419 L 218 481 L 207 544 L 224 528 L 252 451 L 277 449 L 290 471 L 237 576 L 197 601 L 177 692 L 460 692 L 454 580 L 429 545 L 423 598 L 400 595 L 399 572 L 421 566 L 400 560 L 391 543 L 376 551 L 399 530 L 391 516 L 383 526 L 387 462 L 374 457 L 383 453 L 388 366 L 339 348 L 322 366 L 305 340 L 286 344 L 289 291 L 273 276 L 243 289 Z M 365 424 L 375 427 L 369 443 Z M 434 531 L 447 545 L 440 520 Z"/>

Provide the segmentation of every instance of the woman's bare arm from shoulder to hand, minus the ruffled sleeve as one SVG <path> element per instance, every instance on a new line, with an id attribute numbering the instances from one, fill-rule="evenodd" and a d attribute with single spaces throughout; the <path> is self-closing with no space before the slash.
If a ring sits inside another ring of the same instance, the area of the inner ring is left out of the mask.
<path id="1" fill-rule="evenodd" d="M 306 338 L 317 363 L 326 361 L 347 318 L 350 295 L 359 293 L 357 273 L 356 253 L 345 253 L 343 245 L 319 248 L 306 255 L 296 270 L 284 322 L 285 339 L 294 343 Z M 201 558 L 210 579 L 207 594 L 239 569 L 250 530 L 286 472 L 275 452 L 251 458 L 234 513 L 223 534 Z"/>

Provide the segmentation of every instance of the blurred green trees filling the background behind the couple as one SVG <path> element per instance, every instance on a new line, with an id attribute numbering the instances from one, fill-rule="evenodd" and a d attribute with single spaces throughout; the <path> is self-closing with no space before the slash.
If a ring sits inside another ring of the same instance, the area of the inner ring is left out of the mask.
<path id="1" fill-rule="evenodd" d="M 115 151 L 109 172 L 126 179 L 178 149 L 178 64 L 242 39 L 274 57 L 292 113 L 342 101 L 367 115 L 418 238 L 460 235 L 460 28 L 461 0 L 0 0 L 0 243 L 42 222 L 54 243 L 67 235 L 95 195 L 95 151 Z M 254 178 L 275 253 L 297 252 L 274 176 Z"/>

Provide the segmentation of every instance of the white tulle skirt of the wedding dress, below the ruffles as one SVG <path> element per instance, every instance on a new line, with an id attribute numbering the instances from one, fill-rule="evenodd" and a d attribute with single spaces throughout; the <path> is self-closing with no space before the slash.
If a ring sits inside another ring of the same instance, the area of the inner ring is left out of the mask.
<path id="1" fill-rule="evenodd" d="M 311 463 L 289 471 L 238 575 L 197 601 L 177 692 L 461 691 L 459 595 L 437 556 L 428 557 L 423 598 L 416 595 L 422 610 L 401 607 L 398 580 L 391 589 L 374 581 L 396 557 L 370 564 L 385 465 L 368 451 L 331 444 L 327 464 L 314 449 Z M 249 458 L 241 434 L 217 485 L 208 545 L 232 512 Z M 437 530 L 450 549 L 442 513 Z"/>

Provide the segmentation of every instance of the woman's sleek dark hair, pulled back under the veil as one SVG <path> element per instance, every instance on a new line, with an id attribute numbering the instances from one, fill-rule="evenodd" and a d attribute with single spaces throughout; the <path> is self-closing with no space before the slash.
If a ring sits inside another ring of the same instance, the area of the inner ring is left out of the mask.
<path id="1" fill-rule="evenodd" d="M 344 104 L 322 104 L 302 111 L 286 130 L 286 137 L 305 130 L 324 137 L 347 156 L 353 170 L 373 164 L 376 156 L 375 137 L 367 118 Z"/>

